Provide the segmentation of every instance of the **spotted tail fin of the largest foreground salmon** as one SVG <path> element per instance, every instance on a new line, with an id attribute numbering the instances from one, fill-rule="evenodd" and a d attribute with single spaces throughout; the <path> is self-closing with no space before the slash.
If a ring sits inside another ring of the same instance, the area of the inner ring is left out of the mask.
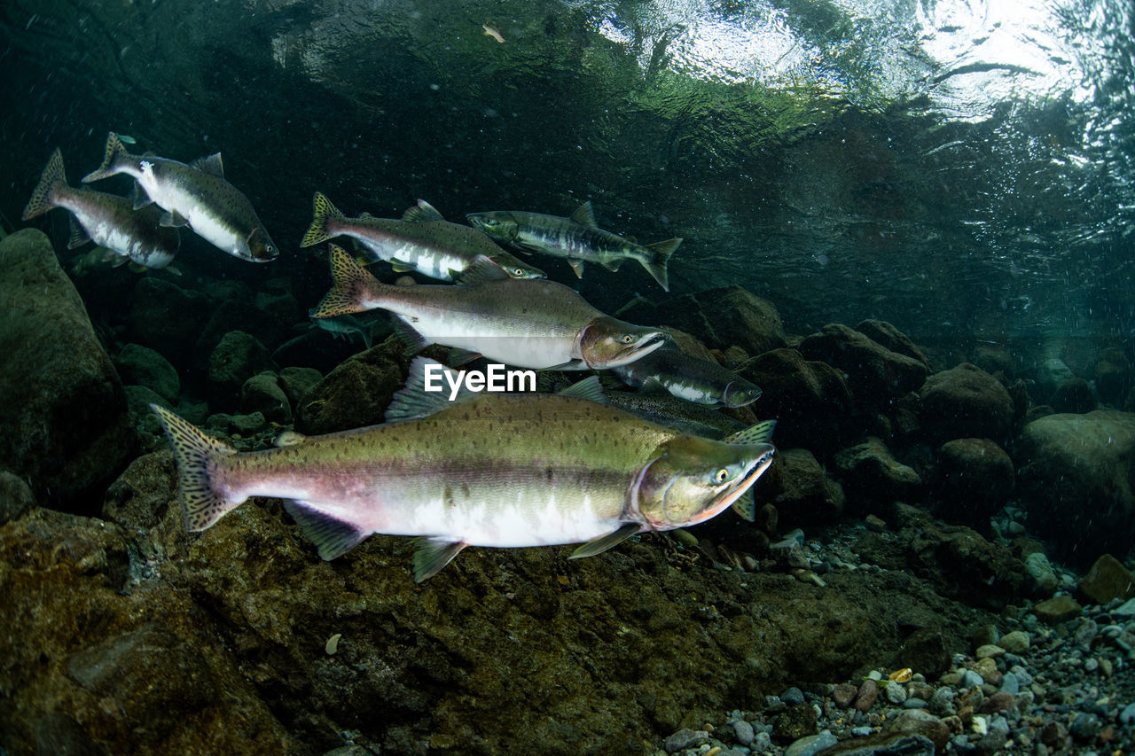
<path id="1" fill-rule="evenodd" d="M 230 502 L 218 494 L 211 477 L 211 468 L 217 457 L 236 454 L 236 450 L 224 442 L 210 438 L 204 431 L 166 408 L 151 404 L 150 409 L 158 415 L 166 431 L 166 438 L 174 447 L 180 490 L 178 498 L 182 502 L 185 529 L 204 530 L 244 501 Z"/>

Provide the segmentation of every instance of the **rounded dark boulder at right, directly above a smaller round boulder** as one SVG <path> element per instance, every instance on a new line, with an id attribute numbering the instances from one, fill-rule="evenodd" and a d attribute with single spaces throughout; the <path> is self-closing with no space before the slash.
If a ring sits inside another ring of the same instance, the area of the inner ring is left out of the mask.
<path id="1" fill-rule="evenodd" d="M 999 442 L 1012 429 L 1015 406 L 1009 392 L 997 378 L 968 362 L 927 378 L 918 398 L 923 430 L 934 439 Z"/>

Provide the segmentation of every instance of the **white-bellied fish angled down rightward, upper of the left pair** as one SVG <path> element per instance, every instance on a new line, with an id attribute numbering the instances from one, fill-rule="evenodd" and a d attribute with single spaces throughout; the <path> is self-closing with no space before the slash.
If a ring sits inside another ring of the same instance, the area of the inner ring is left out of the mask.
<path id="1" fill-rule="evenodd" d="M 252 262 L 269 262 L 279 257 L 279 247 L 268 236 L 249 198 L 225 180 L 220 153 L 185 165 L 158 157 L 137 157 L 126 151 L 118 135 L 107 137 L 102 165 L 83 183 L 117 174 L 136 180 L 134 208 L 151 202 L 166 212 L 166 226 L 188 225 L 195 234 L 229 254 Z"/>

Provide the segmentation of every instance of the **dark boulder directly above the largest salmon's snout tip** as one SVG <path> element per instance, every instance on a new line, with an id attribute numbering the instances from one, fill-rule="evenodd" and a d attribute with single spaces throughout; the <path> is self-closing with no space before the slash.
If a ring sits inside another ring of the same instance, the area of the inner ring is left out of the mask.
<path id="1" fill-rule="evenodd" d="M 737 371 L 764 392 L 760 413 L 780 421 L 777 446 L 807 448 L 821 459 L 839 448 L 851 409 L 851 394 L 839 370 L 809 362 L 796 350 L 779 348 L 738 366 Z"/>

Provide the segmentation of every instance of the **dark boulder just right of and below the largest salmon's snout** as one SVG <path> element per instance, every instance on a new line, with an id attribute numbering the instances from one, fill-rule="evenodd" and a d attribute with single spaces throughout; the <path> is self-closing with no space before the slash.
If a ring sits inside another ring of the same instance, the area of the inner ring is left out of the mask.
<path id="1" fill-rule="evenodd" d="M 788 529 L 834 522 L 843 513 L 843 487 L 831 480 L 812 452 L 804 448 L 779 448 L 753 490 L 758 502 L 772 503 L 783 512 L 779 524 Z"/>

